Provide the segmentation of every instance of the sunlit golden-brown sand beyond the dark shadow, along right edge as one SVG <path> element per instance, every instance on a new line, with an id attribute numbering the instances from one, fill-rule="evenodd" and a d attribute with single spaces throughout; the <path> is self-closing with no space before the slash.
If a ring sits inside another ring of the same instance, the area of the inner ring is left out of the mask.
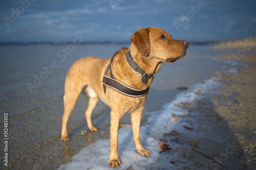
<path id="1" fill-rule="evenodd" d="M 227 56 L 222 57 L 227 59 Z M 214 103 L 215 111 L 219 113 L 232 137 L 236 139 L 238 148 L 242 151 L 241 161 L 248 169 L 256 167 L 256 55 L 241 57 L 247 68 L 239 68 L 238 74 L 223 74 L 221 89 Z M 240 154 L 233 153 L 240 157 Z"/>

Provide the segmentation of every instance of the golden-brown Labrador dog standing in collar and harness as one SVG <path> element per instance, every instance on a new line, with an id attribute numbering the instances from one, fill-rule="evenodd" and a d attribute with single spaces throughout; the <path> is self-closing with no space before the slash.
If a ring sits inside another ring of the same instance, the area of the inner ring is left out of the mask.
<path id="1" fill-rule="evenodd" d="M 92 124 L 91 114 L 100 99 L 111 108 L 109 164 L 114 167 L 121 165 L 117 137 L 120 119 L 126 112 L 131 113 L 137 152 L 151 155 L 140 141 L 140 122 L 148 89 L 161 64 L 183 58 L 189 44 L 188 41 L 172 39 L 168 32 L 152 27 L 137 30 L 131 41 L 129 48 L 122 48 L 112 58 L 84 57 L 77 60 L 65 81 L 61 141 L 69 141 L 68 119 L 81 92 L 88 98 L 85 111 L 88 127 L 91 131 L 98 131 Z"/>

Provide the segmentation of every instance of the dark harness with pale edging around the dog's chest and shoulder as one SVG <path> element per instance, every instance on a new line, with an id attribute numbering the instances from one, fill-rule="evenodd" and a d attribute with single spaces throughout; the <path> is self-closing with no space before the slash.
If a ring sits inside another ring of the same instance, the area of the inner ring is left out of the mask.
<path id="1" fill-rule="evenodd" d="M 102 83 L 103 83 L 103 89 L 104 89 L 104 93 L 106 92 L 106 86 L 109 86 L 125 95 L 129 95 L 129 96 L 133 96 L 133 97 L 139 97 L 139 96 L 142 96 L 142 95 L 145 95 L 148 90 L 150 90 L 150 87 L 148 87 L 147 89 L 145 90 L 137 90 L 137 89 L 133 89 L 133 88 L 130 88 L 128 86 L 125 86 L 124 84 L 118 82 L 115 78 L 115 76 L 112 74 L 112 71 L 111 71 L 111 63 L 113 62 L 114 60 L 114 57 L 122 50 L 123 48 L 121 48 L 120 50 L 118 50 L 111 58 L 111 61 L 110 61 L 110 64 L 108 65 L 108 67 L 106 67 L 106 70 L 105 70 L 105 73 L 104 73 L 104 76 L 103 76 L 103 80 L 102 80 Z M 108 72 L 110 70 L 110 75 L 111 75 L 111 78 L 107 77 L 106 75 L 108 75 Z"/>

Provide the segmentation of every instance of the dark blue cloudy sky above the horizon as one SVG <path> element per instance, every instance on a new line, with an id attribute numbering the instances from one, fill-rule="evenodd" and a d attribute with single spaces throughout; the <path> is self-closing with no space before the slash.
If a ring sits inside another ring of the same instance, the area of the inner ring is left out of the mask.
<path id="1" fill-rule="evenodd" d="M 147 27 L 188 41 L 247 38 L 256 35 L 255 7 L 255 0 L 1 0 L 0 42 L 130 41 Z"/>

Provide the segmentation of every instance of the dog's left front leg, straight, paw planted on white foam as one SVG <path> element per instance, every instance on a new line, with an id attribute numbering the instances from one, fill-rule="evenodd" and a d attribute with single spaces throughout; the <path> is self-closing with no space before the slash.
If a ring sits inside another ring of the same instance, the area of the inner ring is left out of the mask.
<path id="1" fill-rule="evenodd" d="M 122 117 L 122 113 L 112 111 L 110 112 L 111 121 L 110 121 L 110 160 L 109 164 L 114 167 L 118 167 L 121 165 L 118 154 L 118 128 L 120 119 Z"/>

